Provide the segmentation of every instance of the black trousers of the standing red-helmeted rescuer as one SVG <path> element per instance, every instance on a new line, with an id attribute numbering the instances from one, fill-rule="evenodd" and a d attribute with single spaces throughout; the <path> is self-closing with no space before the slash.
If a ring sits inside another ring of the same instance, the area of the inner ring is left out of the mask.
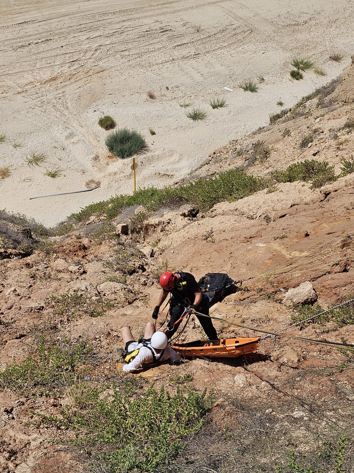
<path id="1" fill-rule="evenodd" d="M 174 298 L 171 298 L 169 303 L 169 323 L 167 327 L 171 330 L 166 332 L 167 338 L 170 339 L 172 335 L 176 332 L 177 328 L 183 322 L 178 322 L 178 324 L 174 325 L 174 323 L 180 318 L 185 310 L 185 304 L 183 302 L 179 302 Z M 201 314 L 209 315 L 209 305 L 205 298 L 202 298 L 202 302 L 197 306 L 196 309 Z M 197 319 L 199 320 L 200 324 L 203 327 L 204 332 L 209 340 L 217 340 L 218 334 L 216 333 L 215 327 L 211 322 L 209 317 L 202 317 L 201 315 L 195 314 Z"/>

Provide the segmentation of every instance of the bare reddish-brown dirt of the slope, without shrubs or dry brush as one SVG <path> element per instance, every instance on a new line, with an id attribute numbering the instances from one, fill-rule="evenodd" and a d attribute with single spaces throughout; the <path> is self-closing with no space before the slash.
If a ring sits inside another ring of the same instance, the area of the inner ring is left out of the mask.
<path id="1" fill-rule="evenodd" d="M 255 140 L 269 144 L 271 153 L 264 163 L 251 166 L 254 174 L 265 175 L 299 159 L 313 158 L 314 153 L 316 159 L 326 159 L 339 170 L 339 159 L 353 152 L 353 133 L 335 130 L 338 136 L 334 138 L 333 129 L 354 116 L 352 97 L 353 67 L 327 97 L 328 106 L 318 107 L 316 99 L 303 104 L 306 113 L 302 116 L 216 151 L 209 164 L 194 176 L 212 175 L 248 162 L 251 146 L 241 156 L 234 156 L 235 150 Z M 318 127 L 320 130 L 314 131 Z M 285 128 L 291 130 L 291 136 L 282 138 Z M 309 131 L 315 135 L 312 146 L 299 149 L 299 140 Z M 214 306 L 211 314 L 272 331 L 292 324 L 291 316 L 296 315 L 296 310 L 281 302 L 287 289 L 304 281 L 311 281 L 322 307 L 354 294 L 354 174 L 319 189 L 311 189 L 309 184 L 285 183 L 271 191 L 217 204 L 194 218 L 186 216 L 186 209 L 156 214 L 145 222 L 139 234 L 100 234 L 100 224 L 81 224 L 70 236 L 47 240 L 41 252 L 2 260 L 2 368 L 14 358 L 20 363 L 28 352 L 32 353 L 43 333 L 39 327 L 45 325 L 44 333 L 53 333 L 60 340 L 65 336 L 72 343 L 90 339 L 94 355 L 87 363 L 95 383 L 118 379 L 122 366 L 119 330 L 130 324 L 137 336 L 141 333 L 158 298 L 157 275 L 166 265 L 190 271 L 197 278 L 222 270 L 236 280 L 256 277 L 245 283 L 248 291 L 229 296 Z M 150 258 L 152 248 L 156 253 Z M 294 263 L 301 264 L 289 272 L 285 265 Z M 279 266 L 282 270 L 278 274 L 257 277 Z M 76 298 L 70 299 L 70 294 Z M 254 333 L 225 323 L 215 322 L 215 326 L 222 337 Z M 344 337 L 354 343 L 353 325 L 339 327 L 333 320 L 324 326 L 297 326 L 289 332 L 333 342 Z M 180 340 L 201 336 L 198 322 L 191 320 Z M 152 368 L 142 375 L 159 386 L 169 385 L 176 374 L 190 374 L 197 388 L 213 387 L 219 398 L 233 393 L 271 399 L 304 391 L 326 396 L 332 395 L 334 386 L 354 388 L 353 365 L 337 369 L 346 361 L 345 354 L 332 347 L 269 338 L 261 343 L 257 353 L 246 358 L 194 359 L 182 366 Z M 316 371 L 314 376 L 314 368 L 320 367 L 331 370 L 330 377 L 329 371 Z M 295 382 L 294 373 L 301 381 Z M 31 409 L 58 413 L 61 405 L 70 403 L 70 394 L 31 397 L 5 389 L 0 400 L 2 471 L 54 472 L 59 471 L 55 470 L 58 462 L 79 468 L 66 449 L 47 443 L 48 438 L 55 437 L 54 429 L 24 423 L 34 420 Z M 65 471 L 64 466 L 60 471 Z"/>

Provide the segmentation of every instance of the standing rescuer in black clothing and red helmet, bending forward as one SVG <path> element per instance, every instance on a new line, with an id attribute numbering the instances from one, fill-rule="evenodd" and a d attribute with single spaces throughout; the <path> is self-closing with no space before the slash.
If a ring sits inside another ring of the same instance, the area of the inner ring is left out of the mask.
<path id="1" fill-rule="evenodd" d="M 167 338 L 171 338 L 176 332 L 179 324 L 174 323 L 183 314 L 185 307 L 200 312 L 201 314 L 209 315 L 208 299 L 204 298 L 202 292 L 198 286 L 194 276 L 189 272 L 164 272 L 160 277 L 160 286 L 162 288 L 157 306 L 154 308 L 152 318 L 157 319 L 160 311 L 160 306 L 163 301 L 171 293 L 171 300 L 169 303 L 169 316 L 170 320 L 168 323 L 168 331 L 166 332 Z M 218 334 L 216 333 L 215 327 L 208 317 L 202 317 L 201 315 L 195 314 L 200 324 L 203 327 L 209 340 L 218 340 Z"/>

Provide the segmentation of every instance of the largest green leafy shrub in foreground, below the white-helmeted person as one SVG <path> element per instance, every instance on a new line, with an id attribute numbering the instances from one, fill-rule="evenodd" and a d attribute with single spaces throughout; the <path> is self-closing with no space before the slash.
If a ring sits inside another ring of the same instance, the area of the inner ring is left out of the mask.
<path id="1" fill-rule="evenodd" d="M 61 409 L 61 418 L 38 414 L 42 424 L 70 429 L 75 445 L 89 445 L 99 452 L 100 471 L 112 473 L 153 472 L 166 468 L 186 447 L 186 440 L 197 432 L 213 404 L 213 394 L 179 387 L 169 394 L 153 384 L 145 393 L 127 394 L 124 385 L 109 397 L 91 396 L 88 409 L 78 406 Z M 62 433 L 62 430 L 60 430 Z M 109 470 L 108 470 L 109 469 Z"/>

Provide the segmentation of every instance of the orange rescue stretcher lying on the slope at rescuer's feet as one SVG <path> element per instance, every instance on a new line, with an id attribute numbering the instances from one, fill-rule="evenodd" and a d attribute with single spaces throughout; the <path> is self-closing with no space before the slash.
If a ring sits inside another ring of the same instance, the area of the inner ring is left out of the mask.
<path id="1" fill-rule="evenodd" d="M 219 357 L 236 358 L 257 350 L 260 338 L 226 338 L 221 340 L 196 340 L 188 343 L 175 343 L 173 350 L 185 358 Z"/>

